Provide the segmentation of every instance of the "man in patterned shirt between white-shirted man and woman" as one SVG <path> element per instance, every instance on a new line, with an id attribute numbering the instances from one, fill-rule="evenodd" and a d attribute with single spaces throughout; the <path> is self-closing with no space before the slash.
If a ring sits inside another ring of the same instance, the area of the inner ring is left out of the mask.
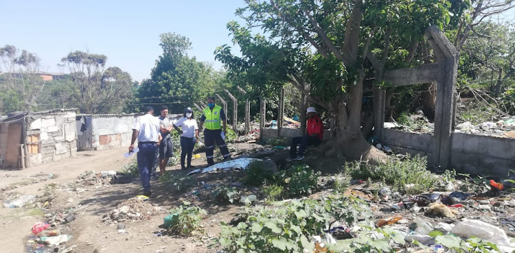
<path id="1" fill-rule="evenodd" d="M 168 119 L 168 106 L 161 106 L 161 115 L 159 116 L 160 128 L 161 128 L 161 143 L 159 144 L 159 171 L 161 175 L 165 173 L 168 159 L 174 154 L 174 144 L 172 141 L 172 124 Z"/>

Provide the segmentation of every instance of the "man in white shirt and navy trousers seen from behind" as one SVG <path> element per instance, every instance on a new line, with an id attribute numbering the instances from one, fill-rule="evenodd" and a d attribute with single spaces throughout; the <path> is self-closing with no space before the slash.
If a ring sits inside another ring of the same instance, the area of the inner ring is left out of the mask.
<path id="1" fill-rule="evenodd" d="M 157 145 L 161 141 L 159 134 L 159 119 L 154 117 L 154 109 L 150 106 L 145 108 L 145 115 L 136 118 L 133 126 L 133 138 L 130 141 L 129 152 L 133 152 L 134 143 L 138 139 L 137 162 L 139 178 L 143 185 L 143 195 L 150 197 L 150 170 L 154 164 Z"/>

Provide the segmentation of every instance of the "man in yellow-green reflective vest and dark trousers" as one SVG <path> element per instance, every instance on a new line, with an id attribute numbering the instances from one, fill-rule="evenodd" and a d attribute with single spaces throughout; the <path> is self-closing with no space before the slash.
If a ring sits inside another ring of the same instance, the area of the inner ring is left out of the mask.
<path id="1" fill-rule="evenodd" d="M 227 128 L 227 120 L 225 118 L 225 112 L 221 106 L 214 104 L 214 97 L 207 98 L 207 108 L 202 111 L 201 124 L 198 127 L 199 132 L 202 131 L 203 125 L 204 130 L 204 144 L 205 144 L 205 156 L 207 158 L 208 165 L 214 165 L 214 144 L 218 146 L 224 160 L 231 160 L 231 154 L 229 149 L 225 145 L 225 134 Z M 222 128 L 223 121 L 223 128 Z M 223 130 L 223 134 L 222 134 Z M 224 136 L 222 138 L 222 136 Z"/>

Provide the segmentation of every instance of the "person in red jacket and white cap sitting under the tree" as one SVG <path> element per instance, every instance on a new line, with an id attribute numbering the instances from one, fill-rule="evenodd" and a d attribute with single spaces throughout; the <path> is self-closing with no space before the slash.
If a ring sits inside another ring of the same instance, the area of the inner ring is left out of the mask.
<path id="1" fill-rule="evenodd" d="M 309 145 L 319 145 L 323 140 L 323 123 L 317 110 L 314 107 L 308 108 L 308 124 L 306 125 L 306 134 L 304 136 L 293 137 L 290 147 L 289 160 L 302 160 L 304 159 L 304 151 Z M 299 152 L 297 153 L 297 145 L 299 145 Z"/>

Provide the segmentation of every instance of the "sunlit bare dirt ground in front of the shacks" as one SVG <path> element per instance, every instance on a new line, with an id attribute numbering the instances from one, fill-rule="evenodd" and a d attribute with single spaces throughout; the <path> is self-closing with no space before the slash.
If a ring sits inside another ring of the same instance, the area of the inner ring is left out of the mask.
<path id="1" fill-rule="evenodd" d="M 239 149 L 257 147 L 247 143 L 236 146 Z M 218 235 L 220 221 L 229 222 L 239 212 L 240 205 L 218 206 L 209 202 L 196 202 L 197 196 L 186 197 L 187 194 L 174 191 L 172 185 L 153 180 L 152 198 L 147 203 L 159 206 L 162 211 L 152 215 L 148 220 L 125 222 L 127 233 L 119 233 L 117 225 L 102 222 L 102 216 L 110 213 L 120 203 L 140 195 L 142 190 L 139 180 L 130 184 L 81 186 L 85 190 L 81 193 L 67 188 L 69 183 L 76 180 L 84 171 L 117 171 L 123 165 L 132 162 L 131 158 L 123 157 L 124 152 L 126 148 L 78 152 L 78 156 L 59 162 L 24 170 L 0 171 L 0 193 L 4 196 L 32 194 L 39 197 L 43 195 L 46 184 L 57 185 L 54 193 L 56 198 L 44 213 L 38 208 L 0 208 L 0 238 L 3 238 L 1 252 L 26 252 L 27 236 L 32 235 L 31 228 L 36 221 L 44 221 L 46 213 L 58 213 L 72 208 L 76 210 L 76 220 L 67 224 L 62 233 L 73 236 L 67 243 L 68 246 L 76 245 L 73 252 L 215 252 L 215 249 L 207 249 L 207 239 Z M 205 160 L 196 159 L 192 164 L 205 165 Z M 178 166 L 167 167 L 167 171 L 184 173 Z M 52 178 L 49 178 L 50 173 Z M 240 171 L 209 174 L 213 176 L 196 174 L 193 177 L 196 182 L 193 184 L 227 181 L 233 176 L 238 177 L 238 173 Z M 205 228 L 204 234 L 186 238 L 156 236 L 157 232 L 162 231 L 159 226 L 163 224 L 163 218 L 168 214 L 168 210 L 179 206 L 183 200 L 198 204 L 207 210 L 208 217 L 201 222 Z"/>

